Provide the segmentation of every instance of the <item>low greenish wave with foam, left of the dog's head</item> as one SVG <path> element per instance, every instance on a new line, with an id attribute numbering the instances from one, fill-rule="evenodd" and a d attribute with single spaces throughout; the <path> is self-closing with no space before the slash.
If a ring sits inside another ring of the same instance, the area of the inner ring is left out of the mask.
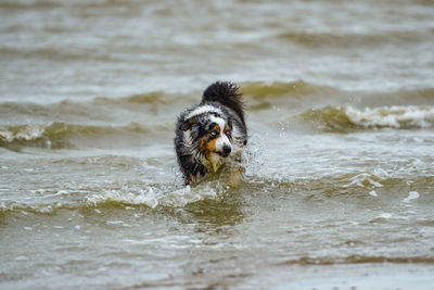
<path id="1" fill-rule="evenodd" d="M 40 147 L 48 149 L 75 148 L 74 139 L 95 139 L 126 135 L 149 135 L 152 131 L 166 131 L 171 128 L 155 126 L 146 128 L 138 123 L 122 127 L 75 125 L 51 123 L 48 125 L 28 124 L 20 126 L 0 126 L 0 147 L 17 149 L 20 147 Z"/>

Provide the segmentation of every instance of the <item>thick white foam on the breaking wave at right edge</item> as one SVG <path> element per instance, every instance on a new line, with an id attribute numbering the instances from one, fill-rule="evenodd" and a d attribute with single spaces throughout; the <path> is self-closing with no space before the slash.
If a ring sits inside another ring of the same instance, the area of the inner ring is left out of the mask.
<path id="1" fill-rule="evenodd" d="M 434 126 L 434 106 L 393 105 L 358 110 L 345 106 L 345 114 L 356 125 L 363 127 L 431 127 Z"/>

